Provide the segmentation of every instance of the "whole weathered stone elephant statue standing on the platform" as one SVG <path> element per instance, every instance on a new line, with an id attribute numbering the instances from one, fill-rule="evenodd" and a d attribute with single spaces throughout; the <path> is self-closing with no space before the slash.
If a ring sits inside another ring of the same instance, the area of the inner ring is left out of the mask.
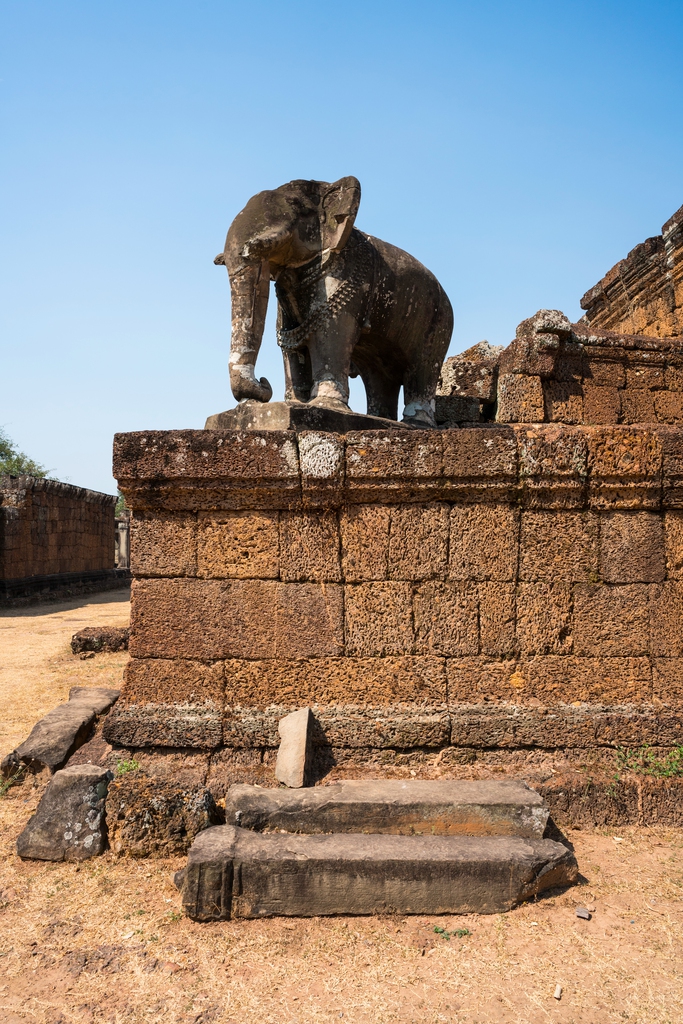
<path id="1" fill-rule="evenodd" d="M 232 301 L 230 387 L 241 401 L 269 401 L 257 379 L 270 281 L 290 401 L 348 411 L 360 376 L 368 413 L 435 427 L 434 394 L 453 332 L 436 278 L 408 253 L 353 226 L 357 178 L 290 181 L 249 200 L 214 263 L 227 268 Z"/>

